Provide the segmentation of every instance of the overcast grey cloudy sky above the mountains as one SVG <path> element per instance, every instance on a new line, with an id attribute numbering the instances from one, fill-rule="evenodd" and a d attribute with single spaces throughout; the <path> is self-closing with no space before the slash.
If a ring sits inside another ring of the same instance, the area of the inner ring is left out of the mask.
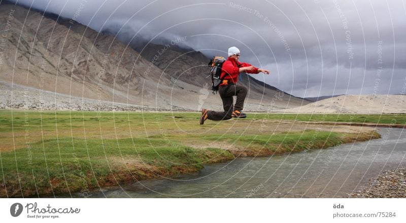
<path id="1" fill-rule="evenodd" d="M 405 5 L 399 0 L 32 3 L 98 31 L 120 31 L 121 38 L 160 42 L 186 36 L 181 46 L 208 56 L 226 56 L 228 47 L 238 47 L 241 61 L 270 70 L 257 79 L 299 97 L 406 94 Z"/>

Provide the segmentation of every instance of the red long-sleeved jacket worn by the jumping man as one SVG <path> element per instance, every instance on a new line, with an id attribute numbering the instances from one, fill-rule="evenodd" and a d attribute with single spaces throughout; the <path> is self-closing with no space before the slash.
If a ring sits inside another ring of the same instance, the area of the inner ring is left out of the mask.
<path id="1" fill-rule="evenodd" d="M 252 66 L 251 64 L 241 63 L 239 61 L 235 61 L 233 59 L 227 58 L 224 61 L 223 66 L 221 67 L 221 75 L 220 79 L 228 80 L 229 82 L 236 83 L 238 81 L 238 75 L 240 74 L 241 67 L 249 67 Z M 259 73 L 258 68 L 251 71 L 246 71 L 246 73 Z M 225 83 L 221 83 L 220 86 L 226 85 Z"/>

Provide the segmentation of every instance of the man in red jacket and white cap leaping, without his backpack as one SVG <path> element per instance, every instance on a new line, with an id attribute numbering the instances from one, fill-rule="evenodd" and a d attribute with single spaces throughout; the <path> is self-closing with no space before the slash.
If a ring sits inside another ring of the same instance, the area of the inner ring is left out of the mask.
<path id="1" fill-rule="evenodd" d="M 204 124 L 206 119 L 220 121 L 230 119 L 231 117 L 247 117 L 247 115 L 243 113 L 243 107 L 248 90 L 245 86 L 235 85 L 238 81 L 238 77 L 241 72 L 255 74 L 262 72 L 269 74 L 269 70 L 259 69 L 248 63 L 241 63 L 239 58 L 240 50 L 238 48 L 228 48 L 228 58 L 221 67 L 222 72 L 220 79 L 223 82 L 219 86 L 219 94 L 223 101 L 224 111 L 216 112 L 203 108 L 201 110 L 200 124 Z M 237 96 L 235 105 L 233 105 L 233 96 Z"/>

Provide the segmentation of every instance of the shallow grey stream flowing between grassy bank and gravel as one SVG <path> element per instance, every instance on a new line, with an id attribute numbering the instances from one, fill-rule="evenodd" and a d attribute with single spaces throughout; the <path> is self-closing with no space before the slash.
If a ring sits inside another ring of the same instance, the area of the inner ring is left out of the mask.
<path id="1" fill-rule="evenodd" d="M 368 179 L 406 165 L 406 131 L 381 128 L 382 138 L 306 153 L 243 157 L 193 174 L 145 180 L 91 197 L 348 197 Z M 371 183 L 371 182 L 370 182 Z"/>

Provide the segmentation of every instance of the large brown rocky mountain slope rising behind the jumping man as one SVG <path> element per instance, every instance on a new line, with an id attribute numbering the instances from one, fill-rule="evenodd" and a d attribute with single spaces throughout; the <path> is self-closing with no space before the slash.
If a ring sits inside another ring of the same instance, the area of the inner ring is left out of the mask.
<path id="1" fill-rule="evenodd" d="M 202 106 L 222 109 L 220 97 L 207 90 L 208 59 L 199 52 L 150 44 L 140 55 L 112 35 L 7 4 L 0 7 L 0 24 L 6 24 L 7 30 L 1 41 L 0 80 L 7 83 L 113 105 L 158 110 L 195 111 Z M 159 58 L 153 60 L 157 54 Z M 246 111 L 272 111 L 309 103 L 247 75 L 243 77 L 242 84 L 250 88 Z"/>

